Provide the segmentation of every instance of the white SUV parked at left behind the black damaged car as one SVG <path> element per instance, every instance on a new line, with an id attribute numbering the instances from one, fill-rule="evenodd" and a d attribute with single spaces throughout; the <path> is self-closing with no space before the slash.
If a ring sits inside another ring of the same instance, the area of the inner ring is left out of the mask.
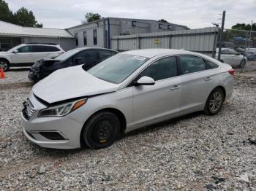
<path id="1" fill-rule="evenodd" d="M 32 66 L 42 58 L 50 55 L 56 57 L 64 50 L 56 44 L 20 44 L 7 52 L 0 52 L 0 67 L 7 71 L 10 66 Z"/>

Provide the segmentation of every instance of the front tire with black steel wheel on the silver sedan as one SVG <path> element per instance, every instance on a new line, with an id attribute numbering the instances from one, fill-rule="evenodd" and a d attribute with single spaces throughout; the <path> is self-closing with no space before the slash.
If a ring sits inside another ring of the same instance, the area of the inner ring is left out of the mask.
<path id="1" fill-rule="evenodd" d="M 91 149 L 109 147 L 120 134 L 121 123 L 116 114 L 99 112 L 94 114 L 83 127 L 84 144 Z"/>

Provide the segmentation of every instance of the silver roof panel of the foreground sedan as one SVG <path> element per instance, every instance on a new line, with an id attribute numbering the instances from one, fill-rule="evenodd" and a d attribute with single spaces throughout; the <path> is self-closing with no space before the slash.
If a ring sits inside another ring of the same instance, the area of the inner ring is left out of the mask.
<path id="1" fill-rule="evenodd" d="M 163 48 L 156 48 L 156 49 L 141 49 L 141 50 L 129 50 L 126 52 L 121 52 L 121 54 L 127 54 L 127 55 L 139 55 L 146 58 L 153 58 L 157 55 L 162 54 L 170 54 L 170 55 L 176 55 L 176 54 L 188 54 L 192 53 L 187 50 L 176 50 L 176 49 L 163 49 Z M 194 53 L 194 52 L 193 52 Z"/>

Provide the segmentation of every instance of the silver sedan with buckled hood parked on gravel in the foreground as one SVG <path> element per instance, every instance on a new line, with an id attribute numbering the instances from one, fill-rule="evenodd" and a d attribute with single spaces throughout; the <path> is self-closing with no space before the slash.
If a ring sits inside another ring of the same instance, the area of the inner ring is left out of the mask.
<path id="1" fill-rule="evenodd" d="M 167 49 L 121 52 L 87 71 L 60 69 L 23 103 L 23 133 L 42 147 L 101 149 L 146 125 L 217 114 L 233 93 L 233 74 L 206 55 Z"/>

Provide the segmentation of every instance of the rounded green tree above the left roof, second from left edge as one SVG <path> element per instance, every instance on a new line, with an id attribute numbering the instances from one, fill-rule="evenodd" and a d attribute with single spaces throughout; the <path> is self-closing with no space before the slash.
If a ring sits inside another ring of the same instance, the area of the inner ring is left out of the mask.
<path id="1" fill-rule="evenodd" d="M 39 27 L 42 28 L 42 24 L 37 23 L 34 13 L 29 11 L 25 7 L 21 7 L 13 15 L 15 23 L 19 26 Z"/>

